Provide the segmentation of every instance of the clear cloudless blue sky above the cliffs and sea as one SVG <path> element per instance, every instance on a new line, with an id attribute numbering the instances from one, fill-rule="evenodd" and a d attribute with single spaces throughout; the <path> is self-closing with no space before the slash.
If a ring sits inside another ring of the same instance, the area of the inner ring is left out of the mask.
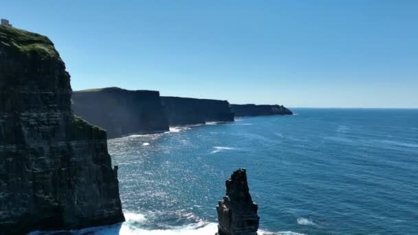
<path id="1" fill-rule="evenodd" d="M 74 90 L 288 107 L 418 107 L 418 1 L 1 1 Z"/>

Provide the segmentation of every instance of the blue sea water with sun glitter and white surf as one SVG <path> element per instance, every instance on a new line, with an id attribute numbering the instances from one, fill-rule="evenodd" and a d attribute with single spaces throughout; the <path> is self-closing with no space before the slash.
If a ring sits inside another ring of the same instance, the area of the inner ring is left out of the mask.
<path id="1" fill-rule="evenodd" d="M 294 111 L 111 139 L 126 222 L 74 234 L 214 235 L 237 168 L 260 234 L 418 234 L 418 110 Z"/>

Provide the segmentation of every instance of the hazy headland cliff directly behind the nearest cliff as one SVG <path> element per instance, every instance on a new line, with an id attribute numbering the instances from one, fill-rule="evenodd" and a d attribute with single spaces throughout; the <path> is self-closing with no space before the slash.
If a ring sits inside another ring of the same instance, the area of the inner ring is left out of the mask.
<path id="1" fill-rule="evenodd" d="M 77 91 L 74 114 L 107 131 L 107 137 L 168 131 L 158 91 L 128 91 L 118 87 Z"/>

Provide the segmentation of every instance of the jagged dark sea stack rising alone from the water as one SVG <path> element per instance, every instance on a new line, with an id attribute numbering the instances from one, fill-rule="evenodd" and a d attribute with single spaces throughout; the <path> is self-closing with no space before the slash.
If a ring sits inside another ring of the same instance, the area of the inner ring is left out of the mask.
<path id="1" fill-rule="evenodd" d="M 259 208 L 249 191 L 245 169 L 234 171 L 226 181 L 226 196 L 217 205 L 217 235 L 257 235 Z"/>

